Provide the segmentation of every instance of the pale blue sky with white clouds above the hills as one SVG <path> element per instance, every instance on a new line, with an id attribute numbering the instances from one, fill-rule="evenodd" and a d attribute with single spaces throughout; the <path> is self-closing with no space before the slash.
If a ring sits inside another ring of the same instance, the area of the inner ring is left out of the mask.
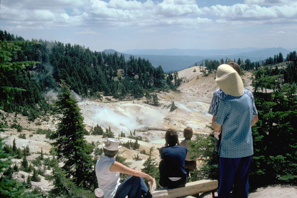
<path id="1" fill-rule="evenodd" d="M 297 0 L 0 0 L 0 30 L 91 50 L 297 48 Z"/>

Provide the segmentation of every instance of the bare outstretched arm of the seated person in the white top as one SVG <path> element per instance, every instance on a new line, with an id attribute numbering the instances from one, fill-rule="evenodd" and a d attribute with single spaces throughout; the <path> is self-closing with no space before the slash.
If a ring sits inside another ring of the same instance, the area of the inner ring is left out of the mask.
<path id="1" fill-rule="evenodd" d="M 129 167 L 117 162 L 117 161 L 113 162 L 113 164 L 110 165 L 109 171 L 110 172 L 120 172 L 120 173 L 123 173 L 123 174 L 134 175 L 134 176 L 137 176 L 137 177 L 145 177 L 151 182 L 151 184 L 153 183 L 153 178 L 151 176 L 149 176 L 148 174 L 143 173 L 143 172 L 141 172 L 139 170 L 129 168 Z"/>

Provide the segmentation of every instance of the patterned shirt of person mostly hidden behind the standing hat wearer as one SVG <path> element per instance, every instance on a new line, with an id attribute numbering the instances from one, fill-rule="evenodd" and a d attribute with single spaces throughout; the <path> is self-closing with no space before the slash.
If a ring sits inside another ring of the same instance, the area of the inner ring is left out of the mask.
<path id="1" fill-rule="evenodd" d="M 250 99 L 252 100 L 253 115 L 257 115 L 258 113 L 257 113 L 257 109 L 256 109 L 256 106 L 255 106 L 255 102 L 254 102 L 252 93 L 247 89 L 244 89 L 244 93 L 247 94 L 250 97 Z M 223 90 L 217 89 L 213 94 L 213 97 L 212 97 L 212 100 L 211 100 L 211 103 L 210 103 L 210 106 L 209 106 L 209 109 L 208 109 L 208 113 L 213 115 L 213 116 L 216 116 L 217 111 L 218 111 L 219 103 L 226 96 L 227 96 L 227 94 L 225 92 L 223 92 Z"/>

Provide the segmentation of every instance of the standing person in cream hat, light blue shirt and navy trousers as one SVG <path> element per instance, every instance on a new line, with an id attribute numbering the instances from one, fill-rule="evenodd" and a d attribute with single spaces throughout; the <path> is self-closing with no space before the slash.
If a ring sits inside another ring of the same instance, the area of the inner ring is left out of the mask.
<path id="1" fill-rule="evenodd" d="M 219 102 L 212 125 L 222 132 L 219 146 L 218 198 L 229 198 L 234 185 L 236 198 L 248 197 L 248 175 L 253 154 L 251 126 L 257 121 L 253 100 L 244 91 L 241 77 L 228 64 L 217 69 L 216 83 L 226 96 Z"/>

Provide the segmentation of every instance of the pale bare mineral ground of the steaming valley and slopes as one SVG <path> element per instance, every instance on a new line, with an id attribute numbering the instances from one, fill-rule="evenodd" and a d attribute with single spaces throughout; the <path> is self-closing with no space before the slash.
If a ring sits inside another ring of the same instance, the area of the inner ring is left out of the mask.
<path id="1" fill-rule="evenodd" d="M 196 70 L 196 72 L 194 72 Z M 182 70 L 179 73 L 179 77 L 183 78 L 183 83 L 179 87 L 178 92 L 160 92 L 157 93 L 160 105 L 158 107 L 146 104 L 146 98 L 140 100 L 125 100 L 118 101 L 111 99 L 111 101 L 104 98 L 102 101 L 83 100 L 78 103 L 81 113 L 84 117 L 86 129 L 90 130 L 91 127 L 99 124 L 103 130 L 110 127 L 111 131 L 118 136 L 121 132 L 126 134 L 126 137 L 130 134 L 130 131 L 136 130 L 136 134 L 143 137 L 144 141 L 139 141 L 140 149 L 132 150 L 122 148 L 122 155 L 127 158 L 128 162 L 131 162 L 132 168 L 141 169 L 142 164 L 148 158 L 148 155 L 141 154 L 140 150 L 145 149 L 148 153 L 149 148 L 154 147 L 153 156 L 156 161 L 159 161 L 159 153 L 156 148 L 164 145 L 164 133 L 166 129 L 173 128 L 179 131 L 179 138 L 183 140 L 182 131 L 185 127 L 192 127 L 194 133 L 208 134 L 209 129 L 206 127 L 211 122 L 211 115 L 207 113 L 209 103 L 211 101 L 214 91 L 218 88 L 215 83 L 215 74 L 210 74 L 207 77 L 203 77 L 199 72 L 199 67 L 191 67 Z M 246 72 L 243 76 L 245 88 L 252 91 L 250 86 L 251 74 Z M 178 107 L 174 111 L 170 112 L 170 104 L 174 101 Z M 3 112 L 3 111 L 2 111 Z M 7 113 L 3 112 L 5 116 Z M 29 122 L 27 117 L 17 115 L 14 117 L 14 113 L 8 114 L 6 118 L 8 125 L 10 126 L 13 120 L 16 120 L 24 130 L 22 133 L 26 134 L 26 139 L 18 138 L 18 133 L 15 129 L 8 129 L 6 132 L 1 133 L 0 137 L 7 137 L 5 142 L 12 145 L 13 139 L 16 141 L 16 147 L 22 148 L 27 145 L 30 151 L 33 153 L 28 156 L 28 160 L 35 159 L 39 154 L 37 152 L 43 149 L 43 152 L 49 154 L 51 142 L 46 139 L 45 135 L 33 134 L 37 129 L 50 129 L 56 130 L 58 119 L 57 117 L 49 117 L 48 121 L 44 121 L 42 118 L 38 118 L 35 122 Z M 41 125 L 36 125 L 40 122 Z M 145 127 L 149 127 L 148 131 L 141 132 Z M 31 137 L 30 137 L 31 136 Z M 95 142 L 101 147 L 101 143 L 106 141 L 106 138 L 101 136 L 86 136 L 86 140 L 91 143 Z M 121 138 L 121 142 L 127 142 L 130 139 Z M 142 160 L 136 161 L 134 158 L 139 154 Z M 45 155 L 45 157 L 48 157 Z M 13 161 L 20 163 L 21 159 L 13 159 Z M 19 165 L 20 166 L 20 165 Z M 50 170 L 47 170 L 46 174 L 49 174 Z M 24 175 L 25 178 L 21 178 Z M 26 180 L 28 173 L 19 171 L 13 175 L 14 178 L 18 178 L 21 181 Z M 42 190 L 50 190 L 52 188 L 51 182 L 41 177 L 41 182 L 32 182 L 33 187 L 40 187 Z M 250 198 L 295 198 L 297 189 L 291 186 L 270 186 L 267 188 L 259 188 L 256 192 L 250 193 Z M 201 197 L 211 198 L 210 193 L 203 194 Z"/>

